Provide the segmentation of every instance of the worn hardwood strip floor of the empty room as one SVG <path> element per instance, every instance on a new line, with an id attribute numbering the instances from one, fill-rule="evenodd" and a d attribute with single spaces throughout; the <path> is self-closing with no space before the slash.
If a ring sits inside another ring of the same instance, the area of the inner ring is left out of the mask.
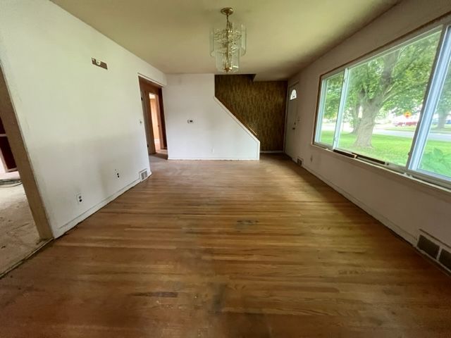
<path id="1" fill-rule="evenodd" d="M 451 337 L 451 278 L 295 163 L 152 161 L 0 280 L 0 337 Z"/>

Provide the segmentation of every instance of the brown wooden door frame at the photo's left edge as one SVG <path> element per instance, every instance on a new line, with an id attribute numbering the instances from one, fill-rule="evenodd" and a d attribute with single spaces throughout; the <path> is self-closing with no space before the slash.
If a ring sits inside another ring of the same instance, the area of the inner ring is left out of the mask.
<path id="1" fill-rule="evenodd" d="M 3 122 L 5 132 L 8 135 L 8 142 L 16 161 L 20 180 L 27 196 L 28 205 L 35 220 L 35 225 L 41 239 L 52 239 L 53 233 L 49 223 L 49 218 L 44 207 L 44 201 L 37 186 L 35 172 L 32 168 L 27 147 L 23 140 L 22 132 L 18 123 L 16 111 L 14 111 L 8 86 L 0 65 L 0 117 Z"/>

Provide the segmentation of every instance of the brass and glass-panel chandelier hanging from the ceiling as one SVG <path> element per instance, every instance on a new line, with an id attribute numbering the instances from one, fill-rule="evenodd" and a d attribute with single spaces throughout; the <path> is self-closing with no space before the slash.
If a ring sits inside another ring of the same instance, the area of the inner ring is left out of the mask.
<path id="1" fill-rule="evenodd" d="M 216 68 L 223 73 L 235 73 L 240 68 L 240 56 L 246 54 L 246 27 L 228 20 L 233 8 L 221 9 L 226 15 L 226 28 L 214 28 L 210 33 L 210 55 L 216 59 Z"/>

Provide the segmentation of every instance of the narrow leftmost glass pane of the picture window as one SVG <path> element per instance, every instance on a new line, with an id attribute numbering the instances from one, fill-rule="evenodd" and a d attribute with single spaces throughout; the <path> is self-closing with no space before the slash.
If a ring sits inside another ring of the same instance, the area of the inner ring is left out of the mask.
<path id="1" fill-rule="evenodd" d="M 316 134 L 316 142 L 333 144 L 333 133 L 338 118 L 338 107 L 343 83 L 343 74 L 338 73 L 323 80 L 323 97 L 321 98 L 321 111 L 319 113 L 319 128 Z"/>

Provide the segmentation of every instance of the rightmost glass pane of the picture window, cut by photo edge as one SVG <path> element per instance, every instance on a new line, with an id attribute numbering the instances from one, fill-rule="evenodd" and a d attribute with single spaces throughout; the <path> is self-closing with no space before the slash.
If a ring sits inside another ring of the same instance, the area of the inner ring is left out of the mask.
<path id="1" fill-rule="evenodd" d="M 451 178 L 451 60 L 419 168 Z"/>

